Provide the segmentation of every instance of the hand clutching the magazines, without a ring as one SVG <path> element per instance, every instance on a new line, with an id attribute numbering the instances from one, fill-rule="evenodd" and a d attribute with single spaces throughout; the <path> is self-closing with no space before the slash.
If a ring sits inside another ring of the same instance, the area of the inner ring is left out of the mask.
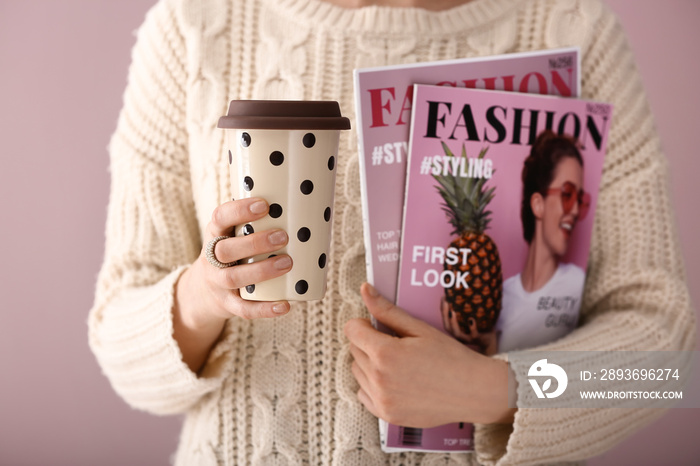
<path id="1" fill-rule="evenodd" d="M 508 366 L 470 350 L 379 296 L 361 289 L 370 313 L 397 336 L 367 319 L 345 325 L 358 399 L 375 416 L 406 427 L 453 422 L 512 422 Z"/>

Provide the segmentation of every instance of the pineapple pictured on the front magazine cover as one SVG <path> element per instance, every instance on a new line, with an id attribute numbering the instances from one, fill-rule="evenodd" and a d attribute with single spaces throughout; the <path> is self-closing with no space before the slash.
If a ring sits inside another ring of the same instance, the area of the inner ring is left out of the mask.
<path id="1" fill-rule="evenodd" d="M 442 147 L 447 156 L 455 156 L 444 142 Z M 482 149 L 478 158 L 483 159 L 487 150 Z M 461 157 L 467 163 L 464 146 Z M 433 175 L 433 178 L 440 184 L 436 187 L 445 201 L 443 210 L 454 227 L 452 234 L 458 235 L 449 247 L 471 249 L 466 264 L 445 263 L 445 270 L 469 273 L 466 278 L 469 288 L 459 284 L 445 288 L 445 301 L 456 314 L 462 332 L 470 333 L 469 318 L 474 319 L 479 333 L 490 332 L 501 311 L 503 296 L 501 258 L 496 243 L 485 233 L 491 221 L 491 211 L 486 207 L 494 197 L 495 187 L 484 189 L 486 178 L 453 174 Z"/>

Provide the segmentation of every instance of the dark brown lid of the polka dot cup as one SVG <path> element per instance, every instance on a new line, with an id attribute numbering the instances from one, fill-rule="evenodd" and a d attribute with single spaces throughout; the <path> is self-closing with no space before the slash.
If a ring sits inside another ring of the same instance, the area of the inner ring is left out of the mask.
<path id="1" fill-rule="evenodd" d="M 334 100 L 232 100 L 224 129 L 350 129 Z"/>

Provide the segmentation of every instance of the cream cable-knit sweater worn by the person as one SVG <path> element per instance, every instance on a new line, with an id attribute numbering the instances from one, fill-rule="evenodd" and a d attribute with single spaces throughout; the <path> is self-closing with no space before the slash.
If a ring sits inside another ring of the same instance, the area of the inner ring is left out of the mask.
<path id="1" fill-rule="evenodd" d="M 615 114 L 582 326 L 548 348 L 693 348 L 666 161 L 630 49 L 600 0 L 473 0 L 440 13 L 163 0 L 150 11 L 110 146 L 106 252 L 89 337 L 129 404 L 186 413 L 177 464 L 576 461 L 658 415 L 520 409 L 512 426 L 477 426 L 476 455 L 383 454 L 377 421 L 356 399 L 342 333 L 348 319 L 366 315 L 354 131 L 341 137 L 326 298 L 294 304 L 282 318 L 231 319 L 200 377 L 172 337 L 174 284 L 198 256 L 213 209 L 231 198 L 216 128 L 230 99 L 338 100 L 354 121 L 353 68 L 570 45 L 582 48 L 583 97 L 613 103 Z"/>

